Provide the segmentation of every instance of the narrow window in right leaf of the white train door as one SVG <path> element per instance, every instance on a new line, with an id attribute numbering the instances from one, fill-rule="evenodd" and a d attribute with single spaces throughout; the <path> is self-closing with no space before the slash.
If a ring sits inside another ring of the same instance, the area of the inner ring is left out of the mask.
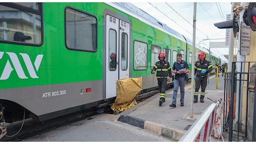
<path id="1" fill-rule="evenodd" d="M 128 35 L 127 33 L 122 33 L 121 35 L 121 69 L 127 70 L 127 48 L 128 48 Z"/>

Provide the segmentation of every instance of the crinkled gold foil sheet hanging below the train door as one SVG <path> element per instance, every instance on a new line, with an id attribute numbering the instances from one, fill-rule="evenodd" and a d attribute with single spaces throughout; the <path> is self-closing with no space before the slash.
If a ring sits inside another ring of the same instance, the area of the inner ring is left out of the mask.
<path id="1" fill-rule="evenodd" d="M 115 111 L 115 114 L 118 114 L 137 105 L 135 97 L 142 89 L 142 77 L 117 80 L 116 88 L 117 96 L 111 109 Z"/>

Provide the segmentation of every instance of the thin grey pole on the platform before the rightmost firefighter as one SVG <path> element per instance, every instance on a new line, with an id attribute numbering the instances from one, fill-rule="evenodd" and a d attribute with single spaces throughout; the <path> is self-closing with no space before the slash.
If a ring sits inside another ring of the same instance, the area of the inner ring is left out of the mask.
<path id="1" fill-rule="evenodd" d="M 191 114 L 193 117 L 193 97 L 194 97 L 194 75 L 195 75 L 195 30 L 196 30 L 196 3 L 194 3 L 194 18 L 193 18 L 193 49 L 192 49 L 192 68 L 191 68 Z"/>

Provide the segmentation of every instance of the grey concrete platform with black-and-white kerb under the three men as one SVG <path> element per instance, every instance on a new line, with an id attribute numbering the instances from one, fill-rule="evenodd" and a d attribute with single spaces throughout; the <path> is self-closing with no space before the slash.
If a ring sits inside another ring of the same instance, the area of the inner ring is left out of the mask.
<path id="1" fill-rule="evenodd" d="M 118 114 L 119 119 L 117 119 L 117 121 L 126 122 L 127 124 L 144 128 L 148 131 L 179 141 L 184 133 L 189 130 L 190 126 L 193 125 L 204 112 L 206 107 L 212 104 L 215 100 L 218 100 L 219 97 L 224 99 L 223 77 L 218 78 L 217 88 L 215 75 L 209 77 L 203 103 L 198 99 L 199 101 L 194 104 L 193 94 L 194 91 L 191 90 L 191 84 L 186 85 L 184 106 L 180 106 L 179 90 L 175 108 L 169 106 L 173 98 L 173 89 L 166 91 L 165 102 L 162 106 L 159 106 L 160 94 L 156 94 Z M 223 103 L 221 103 L 219 107 L 222 105 Z M 223 140 L 227 141 L 228 132 L 222 133 L 222 135 Z"/>

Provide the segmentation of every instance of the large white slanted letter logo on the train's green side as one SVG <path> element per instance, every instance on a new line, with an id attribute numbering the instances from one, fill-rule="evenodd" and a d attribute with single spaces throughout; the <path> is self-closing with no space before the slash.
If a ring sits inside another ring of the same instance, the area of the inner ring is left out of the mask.
<path id="1" fill-rule="evenodd" d="M 4 54 L 4 52 L 0 52 L 0 59 L 2 59 L 3 54 Z M 4 66 L 4 69 L 3 69 L 3 73 L 0 77 L 0 80 L 7 80 L 13 70 L 16 71 L 19 78 L 28 79 L 28 77 L 24 73 L 21 63 L 19 62 L 18 56 L 15 53 L 11 53 L 11 52 L 6 52 L 6 54 L 9 55 L 9 58 L 11 59 L 14 68 L 10 64 L 10 61 L 7 60 L 6 65 Z M 43 59 L 43 55 L 38 54 L 36 57 L 36 60 L 34 62 L 34 65 L 33 65 L 28 54 L 25 54 L 25 53 L 19 53 L 19 54 L 22 56 L 24 63 L 26 65 L 26 68 L 28 70 L 28 73 L 31 76 L 31 78 L 34 78 L 34 79 L 38 78 L 36 71 L 38 71 L 38 69 L 40 67 L 41 61 Z M 36 71 L 33 66 L 35 66 Z"/>

